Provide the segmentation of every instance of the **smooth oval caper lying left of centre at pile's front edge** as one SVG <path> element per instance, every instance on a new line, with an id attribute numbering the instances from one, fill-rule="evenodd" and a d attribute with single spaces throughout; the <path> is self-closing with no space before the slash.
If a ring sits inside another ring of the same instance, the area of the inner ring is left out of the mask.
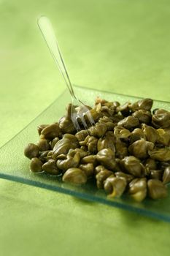
<path id="1" fill-rule="evenodd" d="M 73 184 L 85 184 L 88 180 L 85 172 L 80 168 L 69 168 L 63 174 L 62 180 Z"/>

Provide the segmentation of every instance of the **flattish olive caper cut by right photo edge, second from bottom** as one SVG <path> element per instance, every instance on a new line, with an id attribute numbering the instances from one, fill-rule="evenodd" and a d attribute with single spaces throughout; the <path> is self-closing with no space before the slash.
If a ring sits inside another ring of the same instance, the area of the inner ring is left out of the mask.
<path id="1" fill-rule="evenodd" d="M 170 148 L 155 148 L 148 151 L 152 159 L 158 161 L 170 161 Z"/>

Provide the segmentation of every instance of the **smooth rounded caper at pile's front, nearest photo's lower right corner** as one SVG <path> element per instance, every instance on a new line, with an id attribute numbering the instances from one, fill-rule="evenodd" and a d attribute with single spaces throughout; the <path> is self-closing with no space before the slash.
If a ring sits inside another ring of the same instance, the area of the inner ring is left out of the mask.
<path id="1" fill-rule="evenodd" d="M 161 181 L 150 179 L 147 181 L 148 194 L 152 199 L 159 199 L 167 196 L 167 188 Z"/>

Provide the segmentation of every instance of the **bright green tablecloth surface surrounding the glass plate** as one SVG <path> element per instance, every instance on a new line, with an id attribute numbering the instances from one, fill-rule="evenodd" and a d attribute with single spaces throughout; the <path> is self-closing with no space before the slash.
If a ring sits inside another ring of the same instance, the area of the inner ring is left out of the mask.
<path id="1" fill-rule="evenodd" d="M 1 0 L 0 146 L 65 89 L 36 26 L 42 14 L 74 83 L 170 101 L 169 0 Z M 168 223 L 0 180 L 3 256 L 165 256 L 169 237 Z"/>

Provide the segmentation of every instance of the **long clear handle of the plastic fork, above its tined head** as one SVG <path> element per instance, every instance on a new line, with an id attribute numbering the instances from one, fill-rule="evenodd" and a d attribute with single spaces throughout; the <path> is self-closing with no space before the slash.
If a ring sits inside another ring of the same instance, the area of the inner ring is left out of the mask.
<path id="1" fill-rule="evenodd" d="M 72 83 L 69 78 L 69 74 L 67 72 L 66 65 L 63 61 L 61 50 L 58 46 L 58 42 L 55 37 L 55 33 L 53 31 L 53 26 L 51 25 L 50 20 L 45 16 L 41 16 L 37 20 L 37 23 L 38 23 L 40 31 L 42 32 L 43 37 L 45 38 L 45 42 L 47 43 L 50 53 L 53 56 L 53 59 L 54 59 L 55 63 L 57 64 L 58 69 L 61 72 L 61 75 L 63 75 L 63 79 L 66 82 L 66 86 L 68 87 L 71 96 L 75 98 Z"/>

